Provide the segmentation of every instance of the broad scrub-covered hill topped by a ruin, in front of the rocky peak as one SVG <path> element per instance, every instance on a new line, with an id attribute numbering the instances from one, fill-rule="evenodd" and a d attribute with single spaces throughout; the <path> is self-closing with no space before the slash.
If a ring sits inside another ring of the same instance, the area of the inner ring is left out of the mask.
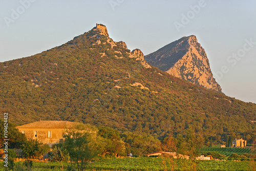
<path id="1" fill-rule="evenodd" d="M 256 104 L 174 77 L 143 59 L 139 49 L 115 42 L 97 24 L 61 46 L 1 62 L 0 112 L 19 125 L 60 118 L 157 138 L 187 129 L 218 142 L 227 135 L 256 136 Z"/>

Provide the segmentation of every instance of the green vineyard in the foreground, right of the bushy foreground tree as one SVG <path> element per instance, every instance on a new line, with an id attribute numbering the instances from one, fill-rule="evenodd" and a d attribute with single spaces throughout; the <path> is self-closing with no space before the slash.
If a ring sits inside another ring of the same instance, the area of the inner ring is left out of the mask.
<path id="1" fill-rule="evenodd" d="M 186 160 L 162 157 L 113 158 L 91 164 L 96 170 L 248 170 L 249 161 Z"/>

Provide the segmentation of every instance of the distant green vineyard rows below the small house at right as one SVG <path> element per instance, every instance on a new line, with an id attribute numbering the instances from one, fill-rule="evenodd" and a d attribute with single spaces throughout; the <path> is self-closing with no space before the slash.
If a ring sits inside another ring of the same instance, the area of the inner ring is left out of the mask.
<path id="1" fill-rule="evenodd" d="M 233 147 L 203 147 L 201 148 L 201 152 L 217 152 L 220 153 L 221 155 L 225 156 L 231 156 L 233 153 L 236 153 L 238 155 L 242 155 L 244 153 L 250 153 L 251 149 L 250 148 L 233 148 Z"/>

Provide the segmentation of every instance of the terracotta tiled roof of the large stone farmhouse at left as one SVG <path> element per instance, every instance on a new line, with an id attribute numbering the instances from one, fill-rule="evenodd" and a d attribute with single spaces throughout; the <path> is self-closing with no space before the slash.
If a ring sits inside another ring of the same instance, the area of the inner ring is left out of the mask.
<path id="1" fill-rule="evenodd" d="M 38 129 L 63 129 L 67 127 L 71 127 L 77 124 L 77 122 L 69 122 L 69 121 L 58 121 L 58 120 L 41 120 L 25 125 L 16 126 L 17 129 L 30 129 L 30 128 L 38 128 Z"/>

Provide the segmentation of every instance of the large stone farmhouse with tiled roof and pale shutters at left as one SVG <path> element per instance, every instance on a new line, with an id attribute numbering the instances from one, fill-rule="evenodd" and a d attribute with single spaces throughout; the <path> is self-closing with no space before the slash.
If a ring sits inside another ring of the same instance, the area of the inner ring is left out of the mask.
<path id="1" fill-rule="evenodd" d="M 58 143 L 62 138 L 62 133 L 70 127 L 76 125 L 77 122 L 69 121 L 37 121 L 25 125 L 16 126 L 16 128 L 27 139 L 37 139 L 39 142 L 47 143 L 50 147 Z"/>

